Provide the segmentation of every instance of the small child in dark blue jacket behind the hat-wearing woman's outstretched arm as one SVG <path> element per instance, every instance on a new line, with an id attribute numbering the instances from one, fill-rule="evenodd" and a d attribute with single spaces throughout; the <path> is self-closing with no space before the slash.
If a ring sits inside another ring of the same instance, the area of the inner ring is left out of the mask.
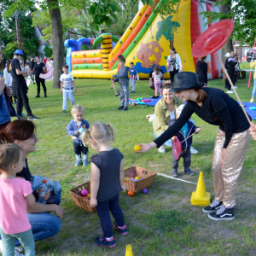
<path id="1" fill-rule="evenodd" d="M 179 118 L 180 114 L 183 111 L 183 108 L 185 107 L 184 104 L 177 107 L 176 110 L 176 117 Z M 178 159 L 175 159 L 173 154 L 173 148 L 172 148 L 172 177 L 178 177 L 177 175 L 177 167 L 178 162 L 183 157 L 183 165 L 184 165 L 184 172 L 185 174 L 189 176 L 193 176 L 195 173 L 190 170 L 191 165 L 191 152 L 190 147 L 192 144 L 193 137 L 189 137 L 192 133 L 201 131 L 201 128 L 196 127 L 194 123 L 192 123 L 190 120 L 186 122 L 185 125 L 181 128 L 180 131 L 177 132 L 177 138 L 181 142 L 182 145 L 182 152 Z M 187 140 L 185 140 L 187 137 L 189 137 Z M 172 137 L 172 141 L 175 140 L 175 137 Z M 184 141 L 185 140 L 185 141 Z"/>

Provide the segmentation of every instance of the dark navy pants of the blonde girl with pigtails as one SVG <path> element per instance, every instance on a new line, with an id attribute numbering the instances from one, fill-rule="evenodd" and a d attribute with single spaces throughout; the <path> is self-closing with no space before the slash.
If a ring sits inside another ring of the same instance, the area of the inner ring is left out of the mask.
<path id="1" fill-rule="evenodd" d="M 112 213 L 113 218 L 116 220 L 119 227 L 123 227 L 125 225 L 124 213 L 119 206 L 119 194 L 113 196 L 109 200 L 98 202 L 96 210 L 101 220 L 102 230 L 105 237 L 113 236 L 113 228 L 109 211 Z"/>

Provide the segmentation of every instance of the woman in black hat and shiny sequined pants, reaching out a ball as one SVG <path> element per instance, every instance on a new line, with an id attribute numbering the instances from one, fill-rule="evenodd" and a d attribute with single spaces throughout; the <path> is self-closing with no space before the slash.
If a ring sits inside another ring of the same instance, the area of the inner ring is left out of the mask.
<path id="1" fill-rule="evenodd" d="M 247 118 L 240 105 L 223 90 L 202 88 L 195 73 L 177 73 L 172 89 L 183 102 L 179 119 L 160 137 L 149 144 L 140 144 L 141 152 L 160 148 L 170 137 L 177 134 L 193 113 L 211 125 L 218 125 L 212 155 L 212 176 L 215 199 L 203 212 L 213 220 L 233 219 L 236 205 L 236 185 L 250 141 Z M 216 212 L 217 211 L 217 212 Z"/>

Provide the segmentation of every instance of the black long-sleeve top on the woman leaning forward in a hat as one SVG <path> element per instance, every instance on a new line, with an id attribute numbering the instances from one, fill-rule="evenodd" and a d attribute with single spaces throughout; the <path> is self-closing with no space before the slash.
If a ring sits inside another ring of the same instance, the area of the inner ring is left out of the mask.
<path id="1" fill-rule="evenodd" d="M 207 93 L 207 99 L 202 102 L 202 107 L 196 102 L 188 102 L 183 112 L 175 123 L 170 126 L 160 137 L 154 140 L 159 148 L 168 139 L 175 136 L 193 113 L 211 125 L 218 125 L 225 132 L 224 148 L 227 148 L 233 133 L 249 129 L 250 125 L 240 105 L 223 90 L 216 88 L 202 88 Z"/>

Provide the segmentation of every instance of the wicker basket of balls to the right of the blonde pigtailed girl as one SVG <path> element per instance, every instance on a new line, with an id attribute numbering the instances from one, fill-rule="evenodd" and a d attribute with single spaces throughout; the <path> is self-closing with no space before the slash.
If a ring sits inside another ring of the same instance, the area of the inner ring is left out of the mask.
<path id="1" fill-rule="evenodd" d="M 153 183 L 156 172 L 152 172 L 148 169 L 132 166 L 128 169 L 125 169 L 125 177 L 143 177 L 140 181 L 125 180 L 127 190 L 131 190 L 134 194 L 137 194 L 143 189 L 147 189 Z"/>

